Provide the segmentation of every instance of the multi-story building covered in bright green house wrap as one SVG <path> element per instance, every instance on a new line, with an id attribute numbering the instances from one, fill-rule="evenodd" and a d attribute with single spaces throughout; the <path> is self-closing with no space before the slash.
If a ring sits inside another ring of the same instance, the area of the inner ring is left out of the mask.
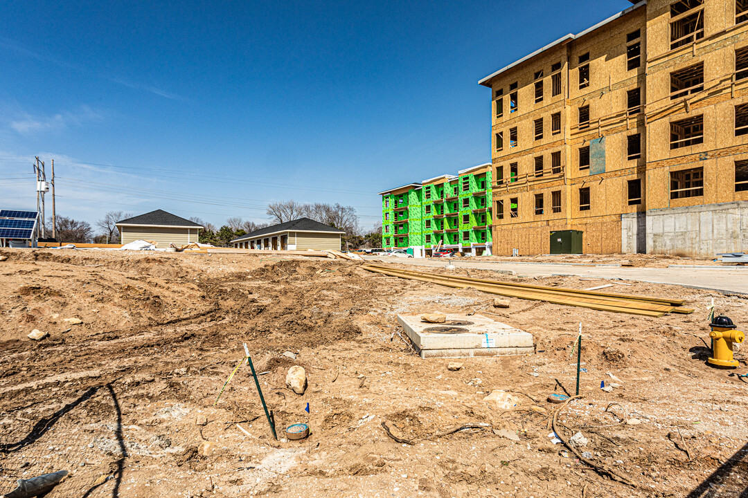
<path id="1" fill-rule="evenodd" d="M 379 195 L 385 249 L 411 249 L 416 258 L 430 256 L 436 249 L 491 254 L 491 164 Z"/>

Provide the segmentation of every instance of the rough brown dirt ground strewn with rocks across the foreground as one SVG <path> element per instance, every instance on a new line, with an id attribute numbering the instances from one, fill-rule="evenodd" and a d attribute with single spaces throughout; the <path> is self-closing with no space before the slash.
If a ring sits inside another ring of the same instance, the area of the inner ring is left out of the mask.
<path id="1" fill-rule="evenodd" d="M 748 489 L 748 379 L 705 364 L 707 306 L 714 298 L 744 329 L 748 301 L 737 296 L 646 283 L 606 289 L 696 308 L 650 318 L 521 299 L 494 308 L 494 296 L 477 290 L 351 261 L 0 254 L 8 257 L 0 262 L 0 494 L 55 470 L 70 476 L 49 498 L 739 497 Z M 447 370 L 454 360 L 423 360 L 396 334 L 396 314 L 426 311 L 485 314 L 531 332 L 536 353 L 467 358 L 462 370 Z M 546 398 L 574 393 L 580 322 L 583 397 L 563 409 L 559 429 L 565 440 L 581 432 L 588 442 L 579 451 L 633 486 L 549 438 L 560 405 Z M 29 340 L 33 329 L 49 337 Z M 262 374 L 279 441 L 249 367 L 215 403 L 242 343 Z M 748 373 L 746 349 L 736 352 L 738 373 Z M 301 396 L 285 386 L 292 365 L 307 371 Z M 620 379 L 610 393 L 600 388 L 609 373 Z M 512 391 L 518 406 L 484 401 L 492 390 Z M 383 422 L 413 444 L 393 441 Z M 308 423 L 310 437 L 286 441 L 292 423 Z M 465 424 L 487 426 L 438 436 Z"/>

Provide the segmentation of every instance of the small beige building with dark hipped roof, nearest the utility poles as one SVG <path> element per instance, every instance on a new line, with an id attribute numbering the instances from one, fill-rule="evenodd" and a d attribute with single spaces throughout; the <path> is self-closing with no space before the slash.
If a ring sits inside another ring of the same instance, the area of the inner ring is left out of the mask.
<path id="1" fill-rule="evenodd" d="M 143 239 L 156 242 L 156 247 L 168 247 L 170 243 L 183 246 L 197 242 L 200 230 L 203 229 L 203 225 L 161 209 L 120 220 L 115 225 L 120 231 L 120 243 L 126 244 Z"/>

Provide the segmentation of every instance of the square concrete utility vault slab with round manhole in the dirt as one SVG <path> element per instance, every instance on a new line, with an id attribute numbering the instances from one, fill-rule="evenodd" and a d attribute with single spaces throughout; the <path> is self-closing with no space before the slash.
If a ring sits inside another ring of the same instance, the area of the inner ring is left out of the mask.
<path id="1" fill-rule="evenodd" d="M 423 323 L 420 315 L 397 315 L 397 322 L 421 358 L 525 355 L 534 351 L 531 334 L 481 315 L 447 314 L 446 323 Z"/>

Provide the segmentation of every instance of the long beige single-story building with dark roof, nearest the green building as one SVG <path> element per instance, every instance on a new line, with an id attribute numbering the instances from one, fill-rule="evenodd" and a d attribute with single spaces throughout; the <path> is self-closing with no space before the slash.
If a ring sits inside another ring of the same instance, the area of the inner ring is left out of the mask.
<path id="1" fill-rule="evenodd" d="M 231 244 L 238 249 L 269 251 L 340 251 L 340 236 L 345 233 L 309 218 L 299 218 L 251 231 L 232 240 Z"/>

